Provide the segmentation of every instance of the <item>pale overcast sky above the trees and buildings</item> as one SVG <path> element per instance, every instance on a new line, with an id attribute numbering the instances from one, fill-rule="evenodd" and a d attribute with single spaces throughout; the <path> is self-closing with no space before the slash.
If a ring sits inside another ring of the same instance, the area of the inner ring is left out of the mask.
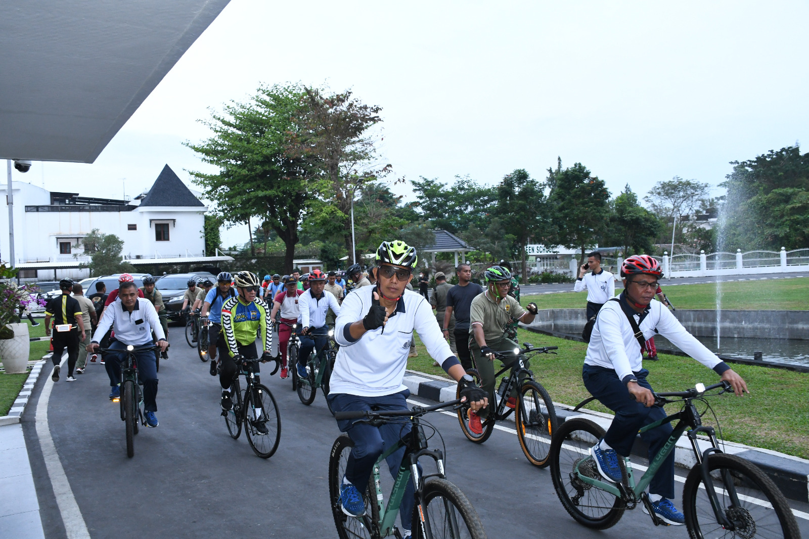
<path id="1" fill-rule="evenodd" d="M 558 155 L 613 194 L 718 185 L 731 160 L 809 140 L 807 28 L 807 2 L 231 0 L 95 163 L 15 180 L 133 196 L 168 163 L 190 183 L 205 165 L 181 142 L 207 136 L 209 108 L 302 82 L 383 107 L 395 177 L 544 179 Z"/>

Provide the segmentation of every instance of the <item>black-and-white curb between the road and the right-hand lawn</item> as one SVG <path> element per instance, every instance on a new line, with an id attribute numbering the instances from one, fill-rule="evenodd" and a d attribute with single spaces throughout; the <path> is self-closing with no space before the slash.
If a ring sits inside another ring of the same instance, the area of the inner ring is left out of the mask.
<path id="1" fill-rule="evenodd" d="M 446 402 L 455 400 L 455 388 L 457 384 L 440 376 L 427 374 L 419 371 L 406 371 L 404 374 L 404 385 L 410 390 L 414 397 L 429 399 L 430 401 Z M 587 418 L 598 423 L 607 429 L 612 422 L 612 414 L 604 414 L 592 410 L 573 411 L 574 406 L 554 402 L 557 418 L 566 421 L 570 418 Z M 701 450 L 709 447 L 707 440 L 698 439 Z M 771 451 L 769 449 L 754 448 L 735 442 L 725 442 L 723 451 L 738 455 L 762 469 L 781 489 L 781 492 L 789 499 L 798 500 L 803 503 L 809 502 L 809 460 L 798 456 L 786 455 L 784 453 Z M 680 468 L 691 469 L 695 463 L 691 442 L 686 436 L 677 442 L 680 451 L 675 452 L 675 464 Z M 646 458 L 648 446 L 640 436 L 633 444 L 632 454 Z"/>

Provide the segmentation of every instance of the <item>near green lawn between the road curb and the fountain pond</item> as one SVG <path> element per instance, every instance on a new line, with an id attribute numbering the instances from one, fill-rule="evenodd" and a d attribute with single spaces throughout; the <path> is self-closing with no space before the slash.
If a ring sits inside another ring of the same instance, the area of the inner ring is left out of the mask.
<path id="1" fill-rule="evenodd" d="M 557 355 L 540 355 L 532 363 L 537 380 L 548 389 L 553 401 L 576 405 L 590 397 L 582 383 L 585 343 L 540 335 L 527 329 L 519 329 L 518 337 L 520 343 L 559 347 Z M 441 367 L 433 365 L 418 337 L 416 350 L 419 355 L 409 359 L 409 369 L 446 376 Z M 714 371 L 693 359 L 666 354 L 659 357 L 658 362 L 644 362 L 651 373 L 650 383 L 659 391 L 681 391 L 693 388 L 697 382 L 708 385 L 718 381 Z M 751 393 L 745 397 L 722 395 L 709 400 L 722 425 L 724 438 L 809 458 L 809 400 L 804 398 L 809 395 L 809 375 L 754 365 L 732 367 L 747 381 Z M 587 408 L 609 412 L 598 402 Z M 701 411 L 704 408 L 699 405 Z M 668 410 L 673 413 L 676 406 L 671 405 Z M 703 422 L 714 425 L 714 418 L 709 416 L 710 413 L 706 414 Z"/>

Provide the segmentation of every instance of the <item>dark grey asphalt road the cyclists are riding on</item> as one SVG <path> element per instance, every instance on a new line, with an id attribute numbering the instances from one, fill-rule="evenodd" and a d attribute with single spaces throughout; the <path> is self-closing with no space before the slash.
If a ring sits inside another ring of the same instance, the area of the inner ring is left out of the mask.
<path id="1" fill-rule="evenodd" d="M 69 384 L 62 377 L 53 386 L 48 410 L 53 441 L 91 537 L 337 537 L 327 475 L 328 451 L 340 433 L 324 397 L 318 394 L 305 406 L 290 380 L 263 377 L 280 409 L 282 438 L 275 455 L 262 460 L 244 433 L 238 440 L 227 434 L 218 380 L 185 344 L 181 330 L 170 329 L 171 359 L 160 365 L 160 426 L 141 427 L 131 459 L 118 405 L 107 397 L 104 367 L 91 364 L 78 381 Z M 47 378 L 40 377 L 23 430 L 45 536 L 55 539 L 66 532 L 32 412 Z M 640 509 L 604 532 L 582 528 L 563 511 L 549 471 L 528 464 L 515 434 L 495 431 L 476 445 L 464 438 L 454 415 L 428 419 L 446 442 L 450 480 L 472 501 L 489 537 L 687 537 L 684 526 L 653 531 Z M 441 442 L 436 436 L 430 443 Z M 678 497 L 681 486 L 678 482 Z M 807 511 L 805 504 L 798 508 Z M 809 537 L 809 521 L 799 524 Z"/>

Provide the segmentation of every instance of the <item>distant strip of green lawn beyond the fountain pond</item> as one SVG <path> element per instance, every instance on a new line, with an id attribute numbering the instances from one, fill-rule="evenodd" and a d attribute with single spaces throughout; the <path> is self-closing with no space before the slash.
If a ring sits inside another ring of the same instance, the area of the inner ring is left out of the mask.
<path id="1" fill-rule="evenodd" d="M 570 286 L 571 290 L 573 285 Z M 618 289 L 620 291 L 621 289 Z M 678 309 L 716 308 L 717 285 L 665 286 L 671 303 Z M 616 291 L 617 293 L 617 291 Z M 587 292 L 523 295 L 521 303 L 533 301 L 540 309 L 584 308 Z M 809 278 L 768 279 L 766 281 L 722 282 L 722 308 L 745 310 L 809 309 Z"/>

